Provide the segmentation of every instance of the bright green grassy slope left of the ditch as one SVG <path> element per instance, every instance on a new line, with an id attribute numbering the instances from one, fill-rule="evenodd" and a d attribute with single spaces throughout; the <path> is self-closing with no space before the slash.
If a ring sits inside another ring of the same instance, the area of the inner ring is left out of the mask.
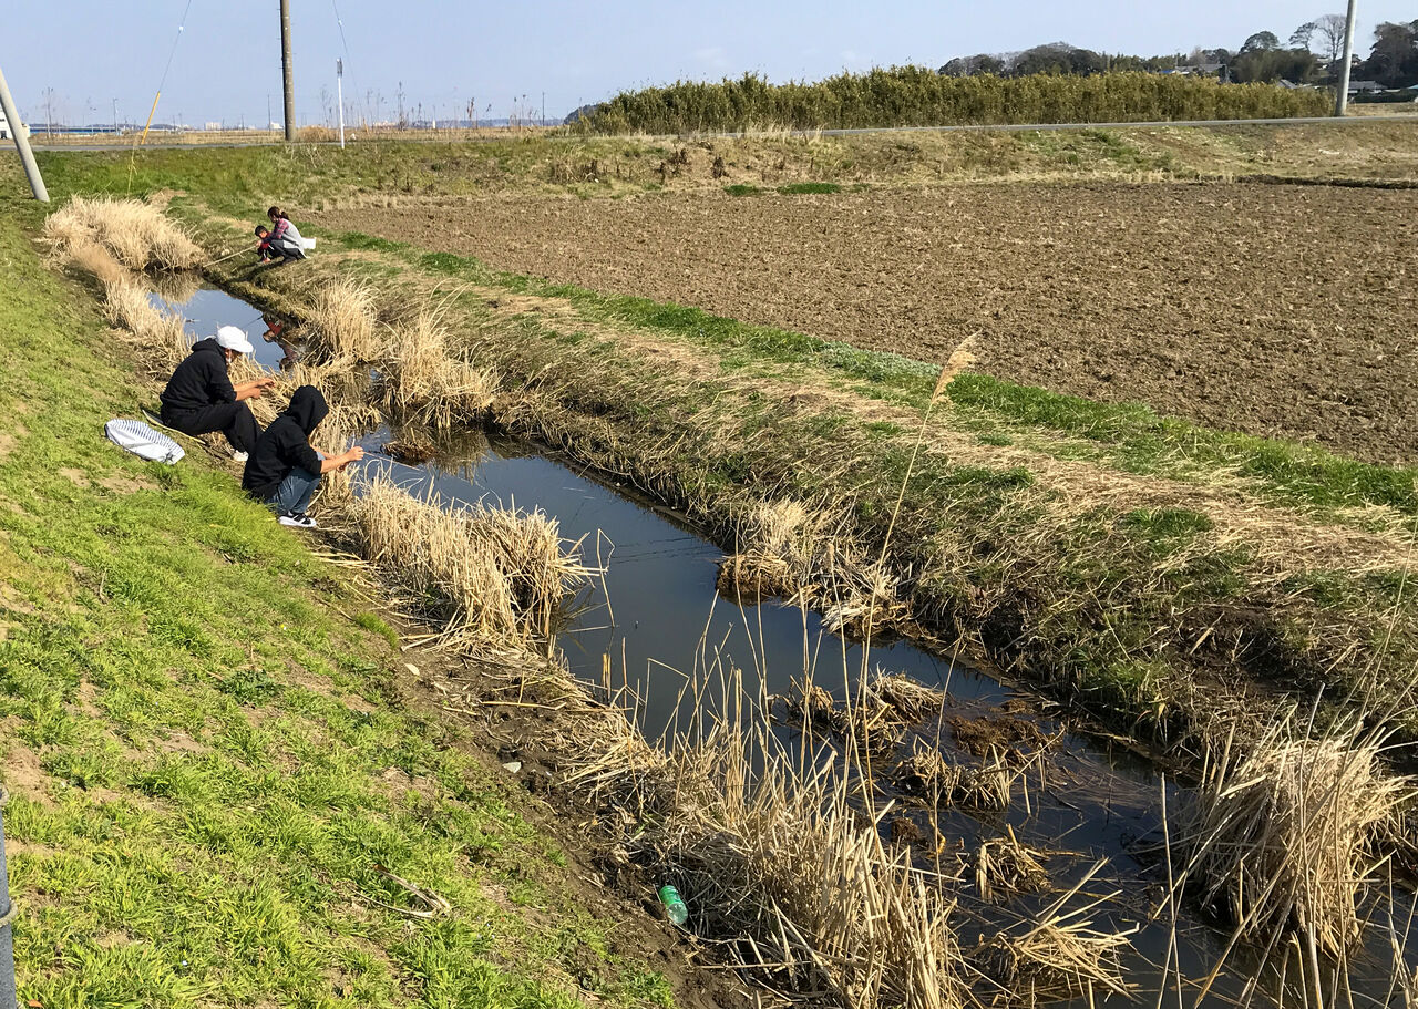
<path id="1" fill-rule="evenodd" d="M 200 452 L 167 469 L 109 445 L 104 421 L 147 394 L 13 217 L 0 257 L 21 1000 L 669 1005 L 536 802 L 401 700 L 360 587 Z M 451 913 L 413 917 L 389 873 Z"/>

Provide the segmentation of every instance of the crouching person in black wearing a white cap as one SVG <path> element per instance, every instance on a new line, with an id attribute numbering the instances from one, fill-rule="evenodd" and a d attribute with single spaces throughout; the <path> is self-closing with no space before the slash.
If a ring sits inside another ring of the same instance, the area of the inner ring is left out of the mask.
<path id="1" fill-rule="evenodd" d="M 220 431 L 231 442 L 231 458 L 245 462 L 261 428 L 244 400 L 261 395 L 275 383 L 257 378 L 231 384 L 227 374 L 231 361 L 252 350 L 251 340 L 235 326 L 223 326 L 216 336 L 194 343 L 163 390 L 159 419 L 187 435 Z"/>

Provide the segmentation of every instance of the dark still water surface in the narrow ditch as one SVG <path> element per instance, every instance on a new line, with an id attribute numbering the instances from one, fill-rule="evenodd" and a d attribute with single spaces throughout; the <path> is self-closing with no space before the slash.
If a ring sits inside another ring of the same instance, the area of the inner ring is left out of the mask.
<path id="1" fill-rule="evenodd" d="M 262 340 L 255 330 L 279 320 L 220 289 L 152 298 L 180 312 L 193 334 L 224 323 L 252 327 L 261 367 L 291 367 L 302 353 L 292 339 Z M 559 615 L 549 642 L 556 660 L 593 694 L 625 704 L 649 738 L 693 737 L 702 731 L 696 720 L 713 721 L 747 699 L 766 704 L 777 743 L 800 760 L 824 744 L 869 751 L 873 781 L 862 806 L 869 804 L 886 843 L 954 880 L 956 935 L 983 976 L 1014 978 L 1034 998 L 1061 1005 L 1103 993 L 1146 999 L 1178 976 L 1205 978 L 1228 952 L 1225 930 L 1195 907 L 1168 903 L 1164 806 L 1176 815 L 1184 796 L 1129 741 L 1062 718 L 959 656 L 899 638 L 864 655 L 859 639 L 828 629 L 821 614 L 736 591 L 725 578 L 733 558 L 683 516 L 577 472 L 547 446 L 476 428 L 430 436 L 387 424 L 356 441 L 367 453 L 356 493 L 386 479 L 442 507 L 533 507 L 556 522 L 594 571 Z M 862 670 L 885 701 L 878 711 L 891 714 L 854 734 L 844 721 L 861 717 L 852 701 Z M 692 881 L 679 883 L 698 896 Z M 1401 921 L 1409 910 L 1411 897 L 1398 894 L 1390 913 Z M 1010 962 L 1018 952 L 1008 942 L 991 944 L 1011 928 L 1020 935 L 1021 921 L 1078 913 L 1088 923 L 1068 948 L 1103 961 L 1109 981 L 1069 983 L 1068 972 L 1082 965 L 1058 949 L 1051 972 L 1041 972 Z M 1373 1005 L 1385 1003 L 1377 996 L 1394 981 L 1391 940 L 1370 930 L 1347 965 L 1356 1005 L 1370 992 Z M 1229 951 L 1197 1005 L 1234 1005 L 1258 992 L 1276 1005 L 1314 998 L 1296 962 L 1259 954 Z M 1402 959 L 1411 971 L 1418 951 L 1402 951 Z M 1320 998 L 1337 995 L 1324 985 Z"/>

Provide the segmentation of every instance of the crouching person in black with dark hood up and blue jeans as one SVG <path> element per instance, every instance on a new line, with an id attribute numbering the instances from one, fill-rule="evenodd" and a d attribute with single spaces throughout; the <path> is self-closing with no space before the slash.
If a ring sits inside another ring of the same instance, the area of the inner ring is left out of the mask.
<path id="1" fill-rule="evenodd" d="M 311 448 L 311 434 L 330 412 L 315 385 L 301 385 L 291 405 L 271 421 L 257 441 L 257 448 L 241 476 L 242 489 L 275 509 L 282 526 L 315 529 L 315 519 L 305 510 L 320 483 L 320 475 L 345 469 L 364 458 L 359 445 L 340 455 L 325 458 Z"/>

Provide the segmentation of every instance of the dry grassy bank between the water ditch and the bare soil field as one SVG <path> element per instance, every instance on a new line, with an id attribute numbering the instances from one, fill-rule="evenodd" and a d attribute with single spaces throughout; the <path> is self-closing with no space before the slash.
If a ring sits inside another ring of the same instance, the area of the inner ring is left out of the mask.
<path id="1" fill-rule="evenodd" d="M 210 211 L 264 205 L 285 181 L 271 159 L 305 157 L 179 154 L 145 162 L 139 184 L 200 194 L 174 210 L 213 252 L 245 239 Z M 339 177 L 367 167 L 387 181 L 386 159 L 414 171 L 431 170 L 428 157 L 380 149 L 323 183 L 339 196 Z M 50 164 L 58 191 L 126 181 L 118 157 Z M 539 186 L 536 174 L 503 169 L 508 186 Z M 1361 692 L 1412 721 L 1409 472 L 970 374 L 937 404 L 912 462 L 933 366 L 362 235 L 325 241 L 295 269 L 237 258 L 214 276 L 296 317 L 335 278 L 406 308 L 448 299 L 445 322 L 518 393 L 502 424 L 628 475 L 725 537 L 790 497 L 821 514 L 804 536 L 831 527 L 828 539 L 871 557 L 909 470 L 891 599 L 1143 734 L 1187 735 L 1218 697 L 1256 682 Z"/>

